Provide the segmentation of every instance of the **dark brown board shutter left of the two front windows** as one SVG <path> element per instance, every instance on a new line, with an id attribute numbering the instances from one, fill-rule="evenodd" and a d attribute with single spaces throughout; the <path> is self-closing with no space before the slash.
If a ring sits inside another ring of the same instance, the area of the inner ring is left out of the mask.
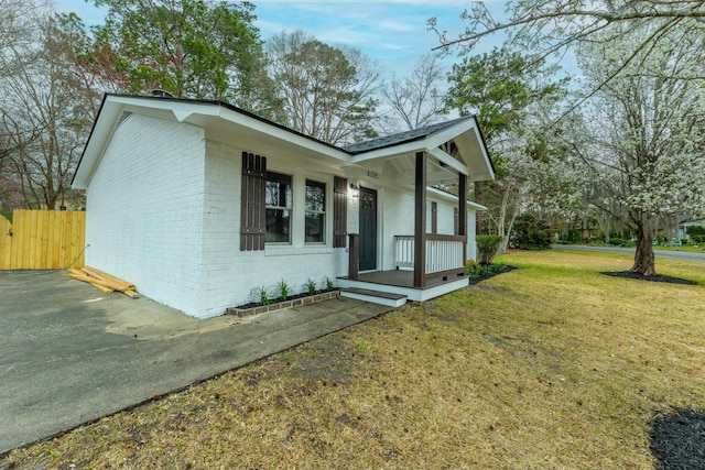
<path id="1" fill-rule="evenodd" d="M 267 157 L 242 152 L 240 251 L 264 250 Z"/>

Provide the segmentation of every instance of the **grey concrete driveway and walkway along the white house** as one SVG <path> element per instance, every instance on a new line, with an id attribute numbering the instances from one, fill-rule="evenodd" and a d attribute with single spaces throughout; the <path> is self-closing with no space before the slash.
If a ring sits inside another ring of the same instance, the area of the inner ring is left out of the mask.
<path id="1" fill-rule="evenodd" d="M 338 299 L 197 320 L 61 271 L 0 272 L 0 455 L 389 309 Z"/>

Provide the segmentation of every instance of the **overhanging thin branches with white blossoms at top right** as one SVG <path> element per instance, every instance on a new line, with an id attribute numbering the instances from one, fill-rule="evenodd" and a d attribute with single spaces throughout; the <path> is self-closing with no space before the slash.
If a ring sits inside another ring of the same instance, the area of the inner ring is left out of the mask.
<path id="1" fill-rule="evenodd" d="M 627 69 L 633 74 L 634 66 L 640 66 L 643 75 L 659 75 L 661 70 L 649 66 L 648 58 L 658 55 L 660 45 L 674 33 L 692 43 L 694 62 L 702 63 L 705 54 L 704 0 L 598 0 L 587 4 L 583 0 L 525 0 L 508 3 L 506 17 L 506 21 L 497 21 L 485 3 L 477 2 L 463 12 L 469 25 L 458 37 L 449 39 L 435 19 L 429 24 L 438 34 L 440 48 L 457 46 L 467 53 L 492 34 L 506 33 L 511 47 L 531 51 L 532 59 L 538 61 L 562 56 L 581 44 L 629 40 L 630 53 L 614 62 L 584 99 Z M 640 33 L 644 25 L 650 31 L 647 35 Z M 687 69 L 679 74 L 684 79 L 702 78 Z"/>

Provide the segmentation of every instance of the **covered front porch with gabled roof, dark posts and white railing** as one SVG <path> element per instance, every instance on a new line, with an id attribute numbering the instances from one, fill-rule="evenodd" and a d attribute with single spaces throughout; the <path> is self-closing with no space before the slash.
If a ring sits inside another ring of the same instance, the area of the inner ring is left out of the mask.
<path id="1" fill-rule="evenodd" d="M 348 233 L 348 273 L 338 277 L 341 294 L 399 306 L 467 286 L 468 242 L 475 240 L 468 232 L 468 182 L 494 178 L 477 120 L 460 118 L 346 150 L 354 155 L 347 170 L 352 177 L 359 175 L 357 186 L 395 188 L 412 197 L 384 203 L 388 223 L 375 241 L 384 247 L 381 265 L 360 262 L 373 240 L 362 218 L 358 233 Z M 440 189 L 448 187 L 454 190 Z M 359 272 L 360 266 L 368 271 Z"/>

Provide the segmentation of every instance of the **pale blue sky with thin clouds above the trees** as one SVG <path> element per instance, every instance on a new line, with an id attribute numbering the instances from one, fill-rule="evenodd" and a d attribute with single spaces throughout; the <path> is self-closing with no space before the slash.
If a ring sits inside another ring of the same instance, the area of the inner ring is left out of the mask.
<path id="1" fill-rule="evenodd" d="M 408 74 L 417 57 L 438 45 L 436 34 L 427 30 L 426 20 L 435 17 L 451 36 L 463 31 L 460 13 L 467 0 L 435 1 L 253 1 L 256 26 L 262 39 L 282 31 L 303 30 L 328 44 L 345 44 L 361 50 L 380 65 L 383 76 Z M 101 22 L 105 10 L 85 0 L 57 0 L 62 11 L 76 12 L 87 25 Z M 499 12 L 503 2 L 495 2 Z M 490 50 L 499 41 L 487 43 Z M 444 61 L 446 72 L 457 57 Z"/>

